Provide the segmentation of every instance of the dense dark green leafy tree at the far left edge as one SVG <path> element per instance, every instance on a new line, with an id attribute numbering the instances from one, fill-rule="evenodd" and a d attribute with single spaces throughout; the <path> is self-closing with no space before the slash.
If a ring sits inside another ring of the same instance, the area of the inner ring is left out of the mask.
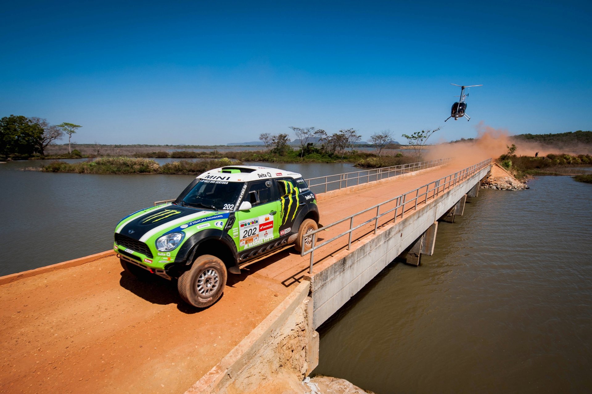
<path id="1" fill-rule="evenodd" d="M 20 115 L 0 119 L 0 154 L 31 156 L 40 151 L 43 128 Z"/>

